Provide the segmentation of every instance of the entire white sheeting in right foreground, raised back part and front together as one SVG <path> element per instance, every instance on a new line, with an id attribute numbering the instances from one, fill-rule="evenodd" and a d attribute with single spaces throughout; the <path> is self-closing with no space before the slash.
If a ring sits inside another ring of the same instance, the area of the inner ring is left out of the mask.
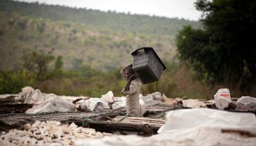
<path id="1" fill-rule="evenodd" d="M 160 134 L 151 137 L 108 136 L 101 139 L 75 141 L 75 146 L 109 145 L 255 145 L 256 137 L 222 129 L 256 132 L 256 118 L 252 113 L 232 113 L 207 108 L 174 110 L 167 115 Z"/>

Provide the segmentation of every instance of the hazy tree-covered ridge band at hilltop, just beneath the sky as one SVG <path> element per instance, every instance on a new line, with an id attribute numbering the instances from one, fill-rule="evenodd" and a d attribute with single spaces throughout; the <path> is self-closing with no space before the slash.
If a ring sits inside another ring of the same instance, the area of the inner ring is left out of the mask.
<path id="1" fill-rule="evenodd" d="M 11 14 L 17 12 L 29 17 L 49 18 L 64 22 L 83 23 L 105 31 L 160 34 L 174 36 L 183 25 L 198 26 L 198 22 L 177 18 L 150 17 L 116 12 L 101 12 L 91 9 L 74 9 L 64 6 L 50 6 L 38 3 L 0 1 L 0 10 Z"/>

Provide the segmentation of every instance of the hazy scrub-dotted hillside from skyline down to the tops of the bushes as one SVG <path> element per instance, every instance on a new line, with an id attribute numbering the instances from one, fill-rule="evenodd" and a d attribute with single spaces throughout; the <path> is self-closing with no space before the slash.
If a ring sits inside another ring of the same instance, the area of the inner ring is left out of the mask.
<path id="1" fill-rule="evenodd" d="M 64 67 L 90 64 L 111 70 L 131 61 L 130 52 L 143 46 L 170 61 L 173 38 L 182 25 L 198 22 L 147 15 L 118 14 L 38 3 L 0 1 L 1 68 L 17 68 L 33 49 L 52 49 L 64 57 Z"/>

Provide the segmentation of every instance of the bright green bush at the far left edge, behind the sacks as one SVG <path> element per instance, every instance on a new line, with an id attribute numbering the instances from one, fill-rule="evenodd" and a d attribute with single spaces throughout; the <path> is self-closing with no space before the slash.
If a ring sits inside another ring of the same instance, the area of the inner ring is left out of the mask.
<path id="1" fill-rule="evenodd" d="M 25 86 L 32 86 L 33 75 L 26 71 L 0 71 L 0 94 L 17 94 Z"/>

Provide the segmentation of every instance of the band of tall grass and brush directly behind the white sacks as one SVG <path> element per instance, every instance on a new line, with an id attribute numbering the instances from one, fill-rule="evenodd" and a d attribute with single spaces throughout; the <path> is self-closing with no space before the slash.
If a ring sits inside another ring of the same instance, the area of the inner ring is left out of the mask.
<path id="1" fill-rule="evenodd" d="M 232 97 L 250 95 L 256 97 L 256 85 L 250 91 L 241 92 L 236 85 L 226 82 L 210 86 L 204 81 L 195 79 L 195 72 L 187 65 L 178 63 L 167 64 L 167 69 L 159 81 L 142 86 L 142 93 L 162 92 L 167 97 L 186 97 L 188 99 L 213 99 L 213 95 L 219 88 L 227 87 Z M 82 70 L 49 71 L 44 81 L 36 80 L 32 73 L 26 71 L 1 71 L 0 72 L 0 94 L 16 94 L 22 87 L 32 86 L 42 92 L 57 95 L 87 95 L 100 97 L 108 91 L 113 91 L 115 96 L 121 96 L 121 90 L 126 81 L 120 75 L 120 69 L 101 72 L 90 67 Z"/>

